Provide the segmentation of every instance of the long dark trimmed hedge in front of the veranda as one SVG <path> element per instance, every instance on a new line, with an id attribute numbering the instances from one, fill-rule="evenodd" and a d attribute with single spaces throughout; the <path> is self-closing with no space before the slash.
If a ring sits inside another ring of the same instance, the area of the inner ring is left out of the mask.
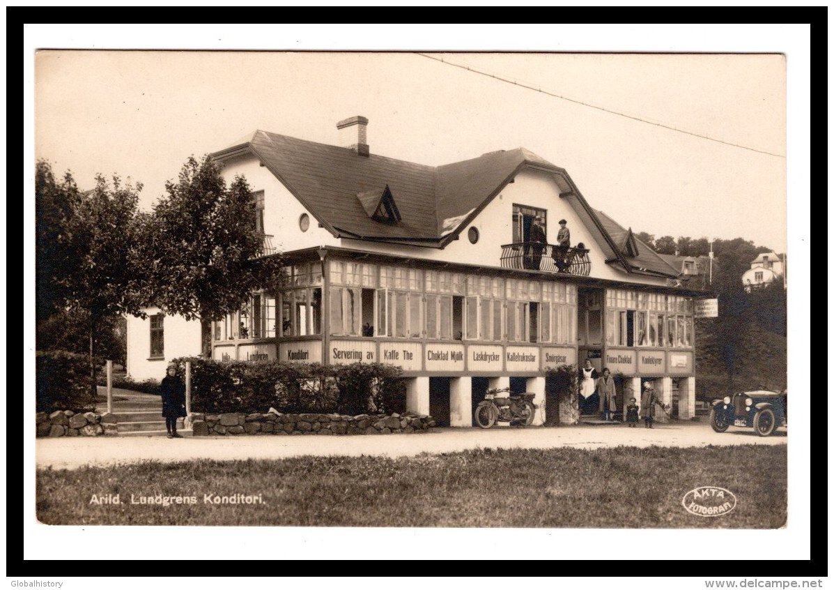
<path id="1" fill-rule="evenodd" d="M 344 366 L 282 361 L 211 361 L 175 359 L 184 376 L 191 361 L 193 411 L 221 413 L 404 411 L 404 385 L 399 367 L 354 363 Z"/>

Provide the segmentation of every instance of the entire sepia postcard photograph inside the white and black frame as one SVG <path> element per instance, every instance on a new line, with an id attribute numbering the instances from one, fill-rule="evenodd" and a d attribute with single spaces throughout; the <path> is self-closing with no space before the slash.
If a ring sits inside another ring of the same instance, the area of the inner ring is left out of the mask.
<path id="1" fill-rule="evenodd" d="M 33 53 L 39 535 L 798 522 L 784 53 L 268 49 Z"/>

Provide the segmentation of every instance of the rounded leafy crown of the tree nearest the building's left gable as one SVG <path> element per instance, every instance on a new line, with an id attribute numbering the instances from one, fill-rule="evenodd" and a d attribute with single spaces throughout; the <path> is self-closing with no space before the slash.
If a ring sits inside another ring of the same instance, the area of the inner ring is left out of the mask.
<path id="1" fill-rule="evenodd" d="M 139 240 L 148 261 L 145 299 L 165 313 L 210 321 L 239 310 L 256 290 L 279 280 L 279 256 L 261 257 L 252 191 L 242 176 L 229 186 L 220 164 L 193 156 L 178 182 L 165 184 Z"/>

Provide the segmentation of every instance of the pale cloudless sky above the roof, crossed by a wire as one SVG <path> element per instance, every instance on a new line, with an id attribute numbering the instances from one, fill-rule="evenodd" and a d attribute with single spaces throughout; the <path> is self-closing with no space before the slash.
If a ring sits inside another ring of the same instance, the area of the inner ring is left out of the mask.
<path id="1" fill-rule="evenodd" d="M 82 187 L 137 179 L 148 208 L 190 154 L 254 129 L 338 144 L 336 122 L 363 115 L 374 154 L 439 165 L 525 147 L 635 231 L 785 250 L 784 56 L 427 55 L 43 50 L 36 157 Z"/>

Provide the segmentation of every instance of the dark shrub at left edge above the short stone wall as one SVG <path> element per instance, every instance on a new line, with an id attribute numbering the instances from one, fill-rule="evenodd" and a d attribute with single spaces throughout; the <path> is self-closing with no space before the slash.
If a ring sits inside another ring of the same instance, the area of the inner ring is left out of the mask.
<path id="1" fill-rule="evenodd" d="M 88 357 L 66 350 L 35 353 L 35 409 L 92 411 Z"/>

